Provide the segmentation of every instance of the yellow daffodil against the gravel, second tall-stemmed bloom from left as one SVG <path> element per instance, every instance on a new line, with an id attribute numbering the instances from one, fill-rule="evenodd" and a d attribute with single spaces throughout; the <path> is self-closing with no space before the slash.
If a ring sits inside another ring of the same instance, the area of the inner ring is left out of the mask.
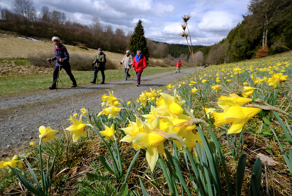
<path id="1" fill-rule="evenodd" d="M 80 116 L 79 120 L 71 116 L 73 124 L 70 125 L 65 130 L 68 130 L 70 133 L 73 133 L 72 139 L 73 142 L 79 140 L 82 136 L 86 137 L 87 133 L 85 131 L 86 124 L 82 122 L 82 116 Z"/>

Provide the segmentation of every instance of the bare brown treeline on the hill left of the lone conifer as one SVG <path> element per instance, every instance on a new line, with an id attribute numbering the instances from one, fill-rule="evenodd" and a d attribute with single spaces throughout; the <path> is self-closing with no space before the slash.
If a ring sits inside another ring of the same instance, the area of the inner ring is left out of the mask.
<path id="1" fill-rule="evenodd" d="M 103 26 L 98 18 L 91 25 L 82 25 L 65 19 L 65 13 L 52 11 L 40 18 L 30 20 L 19 13 L 7 9 L 1 10 L 0 29 L 17 32 L 28 37 L 60 37 L 66 44 L 80 42 L 89 48 L 103 48 L 107 51 L 124 52 L 128 47 L 131 35 L 125 35 L 121 29 L 113 30 Z"/>

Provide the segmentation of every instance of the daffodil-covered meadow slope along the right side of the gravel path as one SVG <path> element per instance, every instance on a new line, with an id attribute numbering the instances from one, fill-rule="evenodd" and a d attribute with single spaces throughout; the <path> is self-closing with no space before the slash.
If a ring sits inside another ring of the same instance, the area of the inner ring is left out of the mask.
<path id="1" fill-rule="evenodd" d="M 99 114 L 40 125 L 39 144 L 3 159 L 0 193 L 292 195 L 291 75 L 287 52 L 213 65 L 130 102 L 109 92 Z"/>

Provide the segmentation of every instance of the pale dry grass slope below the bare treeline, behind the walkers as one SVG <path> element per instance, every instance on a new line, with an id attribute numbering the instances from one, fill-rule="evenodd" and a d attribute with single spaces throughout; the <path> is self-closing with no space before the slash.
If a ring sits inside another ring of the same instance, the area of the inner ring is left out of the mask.
<path id="1" fill-rule="evenodd" d="M 3 32 L 2 32 L 3 34 Z M 37 42 L 31 39 L 20 39 L 17 38 L 17 35 L 13 35 L 14 37 L 0 35 L 0 59 L 43 59 L 44 62 L 40 64 L 46 64 L 46 58 L 53 57 L 53 43 L 51 39 L 42 39 L 44 42 Z M 23 36 L 20 36 L 23 37 Z M 6 38 L 6 39 L 5 39 Z M 61 39 L 62 41 L 62 39 Z M 71 57 L 80 56 L 83 59 L 92 59 L 94 61 L 97 50 L 95 49 L 85 49 L 82 44 L 79 46 L 70 46 L 65 45 L 69 55 Z M 82 48 L 83 47 L 83 48 Z M 124 54 L 113 53 L 109 51 L 104 51 L 107 57 L 107 68 L 120 68 L 120 62 L 122 61 Z M 38 61 L 38 60 L 36 60 Z M 71 58 L 71 64 L 73 63 L 73 58 Z M 88 63 L 86 61 L 86 63 Z M 161 66 L 161 67 L 170 67 L 175 66 L 174 61 L 169 59 L 152 59 L 150 58 L 148 61 L 149 66 Z M 37 66 L 36 64 L 34 64 Z M 72 66 L 73 67 L 73 66 Z"/>

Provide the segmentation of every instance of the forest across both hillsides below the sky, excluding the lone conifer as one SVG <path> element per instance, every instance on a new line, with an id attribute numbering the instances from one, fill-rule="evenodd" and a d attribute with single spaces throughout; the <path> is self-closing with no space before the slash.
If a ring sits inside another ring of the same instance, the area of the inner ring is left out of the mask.
<path id="1" fill-rule="evenodd" d="M 23 6 L 25 4 L 25 6 Z M 31 0 L 13 1 L 13 10 L 1 8 L 0 29 L 28 37 L 61 37 L 65 44 L 84 44 L 106 51 L 124 53 L 129 49 L 133 32 L 113 30 L 102 25 L 97 17 L 90 25 L 66 18 L 64 12 L 43 6 L 37 14 Z M 234 27 L 226 38 L 212 46 L 193 46 L 196 65 L 221 64 L 278 54 L 292 49 L 292 1 L 251 0 L 249 14 Z M 192 32 L 190 32 L 192 34 Z M 152 58 L 181 59 L 191 62 L 190 51 L 184 44 L 168 44 L 147 38 Z"/>

